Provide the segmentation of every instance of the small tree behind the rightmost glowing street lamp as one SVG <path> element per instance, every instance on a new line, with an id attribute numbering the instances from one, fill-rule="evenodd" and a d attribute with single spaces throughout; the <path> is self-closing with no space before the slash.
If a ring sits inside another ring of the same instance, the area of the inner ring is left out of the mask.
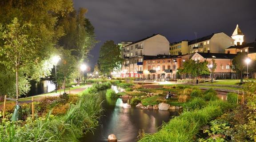
<path id="1" fill-rule="evenodd" d="M 247 55 L 244 52 L 239 52 L 236 57 L 232 60 L 232 70 L 236 71 L 237 74 L 241 75 L 241 79 L 243 78 L 243 72 L 245 71 L 246 64 L 244 60 L 246 59 Z"/>

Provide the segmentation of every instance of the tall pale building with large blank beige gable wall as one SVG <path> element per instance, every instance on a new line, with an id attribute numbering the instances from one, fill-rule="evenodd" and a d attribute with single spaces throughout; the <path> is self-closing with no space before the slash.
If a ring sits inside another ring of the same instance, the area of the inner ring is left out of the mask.
<path id="1" fill-rule="evenodd" d="M 143 61 L 146 56 L 159 54 L 169 55 L 169 41 L 162 35 L 156 34 L 122 47 L 124 62 L 121 67 L 122 77 L 144 77 Z"/>

